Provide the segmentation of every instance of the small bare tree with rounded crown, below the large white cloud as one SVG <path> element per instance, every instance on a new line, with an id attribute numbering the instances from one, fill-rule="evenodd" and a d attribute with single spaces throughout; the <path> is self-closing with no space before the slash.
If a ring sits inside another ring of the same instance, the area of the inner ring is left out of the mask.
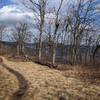
<path id="1" fill-rule="evenodd" d="M 15 25 L 13 30 L 13 38 L 17 43 L 17 55 L 24 55 L 24 43 L 31 40 L 31 32 L 26 23 Z"/>

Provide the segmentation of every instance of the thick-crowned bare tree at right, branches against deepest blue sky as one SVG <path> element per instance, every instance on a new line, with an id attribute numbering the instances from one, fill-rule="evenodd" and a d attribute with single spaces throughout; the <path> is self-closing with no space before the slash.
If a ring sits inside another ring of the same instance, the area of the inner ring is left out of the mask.
<path id="1" fill-rule="evenodd" d="M 72 63 L 76 64 L 79 56 L 79 47 L 83 34 L 91 29 L 94 22 L 93 0 L 77 0 L 77 4 L 72 6 L 72 11 L 68 16 L 69 30 L 72 35 Z"/>

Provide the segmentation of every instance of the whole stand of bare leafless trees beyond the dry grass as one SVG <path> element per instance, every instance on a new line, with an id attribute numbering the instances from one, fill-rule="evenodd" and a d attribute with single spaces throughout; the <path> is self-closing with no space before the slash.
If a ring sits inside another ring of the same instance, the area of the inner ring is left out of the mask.
<path id="1" fill-rule="evenodd" d="M 67 3 L 60 0 L 58 6 L 49 3 L 50 0 L 22 2 L 35 18 L 34 23 L 19 22 L 10 28 L 12 40 L 16 42 L 16 54 L 26 56 L 25 44 L 32 44 L 30 48 L 35 49 L 31 50 L 31 56 L 35 53 L 39 61 L 53 65 L 59 61 L 72 65 L 95 64 L 100 59 L 100 3 L 96 0 Z M 0 25 L 1 44 L 6 28 L 8 26 Z"/>

